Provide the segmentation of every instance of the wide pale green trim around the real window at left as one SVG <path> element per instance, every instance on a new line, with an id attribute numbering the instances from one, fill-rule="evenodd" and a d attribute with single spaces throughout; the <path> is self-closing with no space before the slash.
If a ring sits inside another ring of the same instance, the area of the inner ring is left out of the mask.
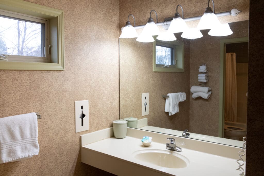
<path id="1" fill-rule="evenodd" d="M 64 12 L 22 0 L 1 0 L 0 9 L 50 20 L 51 63 L 0 61 L 0 70 L 64 70 Z"/>

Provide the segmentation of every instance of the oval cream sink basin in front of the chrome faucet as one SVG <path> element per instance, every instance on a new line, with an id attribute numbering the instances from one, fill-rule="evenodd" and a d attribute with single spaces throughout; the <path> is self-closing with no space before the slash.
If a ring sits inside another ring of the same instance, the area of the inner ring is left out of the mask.
<path id="1" fill-rule="evenodd" d="M 166 168 L 185 168 L 190 163 L 185 156 L 170 150 L 138 150 L 132 155 L 138 160 Z"/>

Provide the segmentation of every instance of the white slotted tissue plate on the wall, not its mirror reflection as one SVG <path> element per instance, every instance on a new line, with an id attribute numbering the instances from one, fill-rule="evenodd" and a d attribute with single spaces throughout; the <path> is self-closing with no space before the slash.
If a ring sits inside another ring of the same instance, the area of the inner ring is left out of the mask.
<path id="1" fill-rule="evenodd" d="M 75 102 L 75 132 L 78 133 L 86 130 L 89 130 L 89 101 L 88 100 L 76 101 Z"/>

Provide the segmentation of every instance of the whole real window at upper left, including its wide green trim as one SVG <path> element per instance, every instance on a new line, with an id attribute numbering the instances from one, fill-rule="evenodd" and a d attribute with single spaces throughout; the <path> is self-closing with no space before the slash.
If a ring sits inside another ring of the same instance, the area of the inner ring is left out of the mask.
<path id="1" fill-rule="evenodd" d="M 0 1 L 0 69 L 64 70 L 63 11 Z"/>

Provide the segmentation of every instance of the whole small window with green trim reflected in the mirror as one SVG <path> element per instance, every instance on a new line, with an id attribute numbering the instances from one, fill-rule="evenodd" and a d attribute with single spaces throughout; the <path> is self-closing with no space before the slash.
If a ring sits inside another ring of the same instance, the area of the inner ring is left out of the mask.
<path id="1" fill-rule="evenodd" d="M 184 43 L 155 39 L 153 72 L 184 72 Z"/>

